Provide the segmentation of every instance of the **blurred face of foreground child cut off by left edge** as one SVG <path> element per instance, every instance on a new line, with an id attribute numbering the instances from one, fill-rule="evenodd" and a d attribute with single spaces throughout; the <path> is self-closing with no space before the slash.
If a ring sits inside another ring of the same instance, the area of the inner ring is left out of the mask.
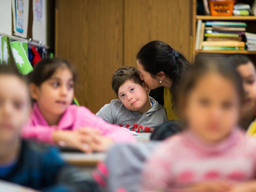
<path id="1" fill-rule="evenodd" d="M 20 137 L 29 111 L 27 85 L 14 75 L 0 75 L 0 142 Z"/>

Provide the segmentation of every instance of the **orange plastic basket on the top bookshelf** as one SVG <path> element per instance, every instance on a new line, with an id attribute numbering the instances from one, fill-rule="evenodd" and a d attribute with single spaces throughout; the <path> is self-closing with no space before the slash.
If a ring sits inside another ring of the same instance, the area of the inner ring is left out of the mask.
<path id="1" fill-rule="evenodd" d="M 233 13 L 234 0 L 209 0 L 212 16 L 230 16 Z"/>

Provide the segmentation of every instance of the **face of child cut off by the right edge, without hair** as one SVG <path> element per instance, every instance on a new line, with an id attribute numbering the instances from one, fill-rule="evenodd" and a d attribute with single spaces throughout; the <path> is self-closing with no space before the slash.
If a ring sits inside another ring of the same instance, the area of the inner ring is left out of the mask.
<path id="1" fill-rule="evenodd" d="M 243 79 L 245 101 L 242 107 L 242 117 L 252 116 L 256 108 L 256 72 L 251 62 L 237 67 Z"/>

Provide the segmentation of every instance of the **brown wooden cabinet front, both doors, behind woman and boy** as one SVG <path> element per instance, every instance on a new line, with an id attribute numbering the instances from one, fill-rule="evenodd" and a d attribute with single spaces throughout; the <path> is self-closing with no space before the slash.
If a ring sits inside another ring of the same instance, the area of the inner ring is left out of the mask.
<path id="1" fill-rule="evenodd" d="M 136 66 L 136 53 L 162 40 L 190 60 L 190 0 L 56 0 L 55 54 L 76 66 L 76 97 L 96 113 L 116 99 L 113 72 Z"/>

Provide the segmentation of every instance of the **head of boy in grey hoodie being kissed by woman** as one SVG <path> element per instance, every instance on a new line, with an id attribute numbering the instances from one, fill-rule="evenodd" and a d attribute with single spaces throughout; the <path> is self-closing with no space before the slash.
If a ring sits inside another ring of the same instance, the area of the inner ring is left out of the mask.
<path id="1" fill-rule="evenodd" d="M 148 88 L 143 86 L 138 69 L 121 67 L 112 77 L 112 89 L 124 106 L 132 111 L 144 113 L 149 101 Z"/>

